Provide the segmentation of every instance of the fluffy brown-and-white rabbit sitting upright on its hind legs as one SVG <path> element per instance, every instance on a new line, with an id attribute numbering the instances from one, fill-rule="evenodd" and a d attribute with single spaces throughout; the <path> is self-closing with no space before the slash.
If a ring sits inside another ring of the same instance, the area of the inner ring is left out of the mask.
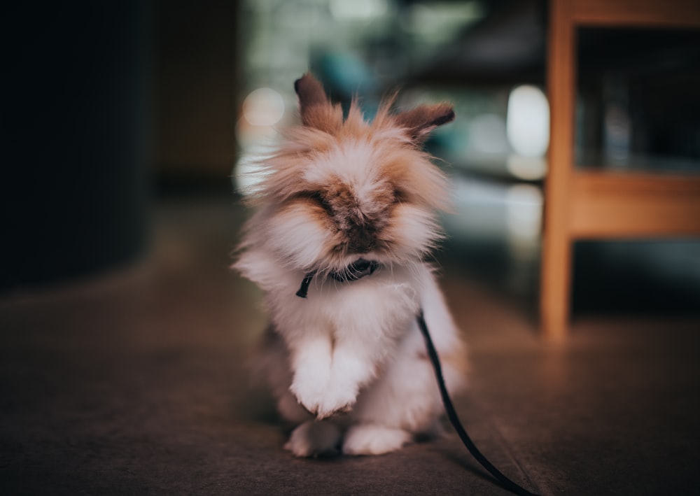
<path id="1" fill-rule="evenodd" d="M 450 392 L 466 350 L 426 259 L 443 237 L 448 181 L 421 151 L 449 104 L 344 118 L 310 73 L 301 125 L 260 166 L 257 211 L 233 268 L 262 288 L 270 324 L 256 357 L 298 457 L 378 455 L 441 432 L 442 404 L 416 315 Z"/>

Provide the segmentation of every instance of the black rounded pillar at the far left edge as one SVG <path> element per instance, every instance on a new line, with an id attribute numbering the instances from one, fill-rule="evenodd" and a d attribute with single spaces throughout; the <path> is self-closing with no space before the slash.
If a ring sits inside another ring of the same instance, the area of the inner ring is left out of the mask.
<path id="1" fill-rule="evenodd" d="M 152 15 L 142 0 L 3 8 L 0 291 L 144 252 Z"/>

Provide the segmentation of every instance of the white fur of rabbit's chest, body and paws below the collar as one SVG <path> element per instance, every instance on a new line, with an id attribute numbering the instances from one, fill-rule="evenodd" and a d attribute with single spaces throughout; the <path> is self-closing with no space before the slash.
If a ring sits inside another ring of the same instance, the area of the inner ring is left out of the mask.
<path id="1" fill-rule="evenodd" d="M 281 414 L 295 423 L 335 414 L 335 423 L 323 422 L 349 425 L 342 451 L 353 455 L 394 451 L 414 434 L 435 432 L 442 403 L 416 325 L 419 309 L 438 353 L 449 353 L 460 341 L 429 267 L 381 267 L 352 283 L 315 279 L 302 299 L 295 292 L 303 272 L 273 261 L 248 251 L 236 267 L 266 290 L 283 338 L 285 346 L 265 351 L 275 364 L 266 373 L 278 385 Z M 461 388 L 458 370 L 443 363 L 443 372 L 449 390 Z M 295 399 L 311 414 L 295 409 Z M 297 456 L 325 453 L 337 441 L 302 427 L 286 445 Z"/>

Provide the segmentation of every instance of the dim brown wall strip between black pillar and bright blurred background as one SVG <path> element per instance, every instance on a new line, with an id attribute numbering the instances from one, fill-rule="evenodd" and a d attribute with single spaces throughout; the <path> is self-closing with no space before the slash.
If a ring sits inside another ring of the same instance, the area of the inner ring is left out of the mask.
<path id="1" fill-rule="evenodd" d="M 155 170 L 228 182 L 239 91 L 236 0 L 161 0 L 155 8 Z"/>

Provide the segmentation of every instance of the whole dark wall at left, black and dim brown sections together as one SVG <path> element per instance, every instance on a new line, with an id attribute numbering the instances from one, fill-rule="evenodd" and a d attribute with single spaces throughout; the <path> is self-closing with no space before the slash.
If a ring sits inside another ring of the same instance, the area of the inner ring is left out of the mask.
<path id="1" fill-rule="evenodd" d="M 0 292 L 144 255 L 158 179 L 230 185 L 237 13 L 236 0 L 3 7 Z"/>

